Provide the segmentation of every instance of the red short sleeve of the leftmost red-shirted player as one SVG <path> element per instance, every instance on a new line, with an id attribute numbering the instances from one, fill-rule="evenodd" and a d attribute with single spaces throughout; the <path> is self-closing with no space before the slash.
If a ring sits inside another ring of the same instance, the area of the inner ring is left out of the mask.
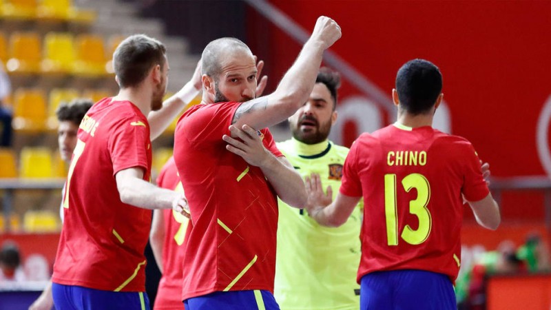
<path id="1" fill-rule="evenodd" d="M 145 117 L 123 117 L 114 125 L 107 144 L 113 164 L 113 175 L 132 167 L 142 167 L 144 175 L 147 174 L 147 149 L 151 147 L 149 137 L 149 123 Z"/>

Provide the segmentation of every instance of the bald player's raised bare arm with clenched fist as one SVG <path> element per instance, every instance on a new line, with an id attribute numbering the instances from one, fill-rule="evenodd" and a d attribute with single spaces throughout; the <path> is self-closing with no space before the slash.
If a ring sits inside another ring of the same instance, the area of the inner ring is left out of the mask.
<path id="1" fill-rule="evenodd" d="M 266 101 L 253 99 L 238 107 L 232 123 L 241 128 L 265 128 L 293 115 L 312 91 L 315 77 L 322 63 L 324 50 L 341 37 L 339 25 L 329 17 L 319 17 L 302 51 L 283 76 L 277 89 L 266 96 Z M 260 105 L 256 107 L 256 104 Z"/>

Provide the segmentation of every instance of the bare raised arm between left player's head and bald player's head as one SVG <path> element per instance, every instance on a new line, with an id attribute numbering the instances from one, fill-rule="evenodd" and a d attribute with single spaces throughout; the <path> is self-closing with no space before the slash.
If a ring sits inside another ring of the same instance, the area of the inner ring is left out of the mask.
<path id="1" fill-rule="evenodd" d="M 165 100 L 160 110 L 149 112 L 147 115 L 152 141 L 167 129 L 174 118 L 199 94 L 201 88 L 201 61 L 199 60 L 191 80 L 176 94 Z"/>

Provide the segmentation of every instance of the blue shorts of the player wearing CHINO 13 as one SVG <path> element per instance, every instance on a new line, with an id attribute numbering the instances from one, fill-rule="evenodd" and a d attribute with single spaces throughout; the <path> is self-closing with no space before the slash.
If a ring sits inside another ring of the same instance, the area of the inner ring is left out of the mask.
<path id="1" fill-rule="evenodd" d="M 457 310 L 448 276 L 424 270 L 393 270 L 362 277 L 360 310 Z"/>

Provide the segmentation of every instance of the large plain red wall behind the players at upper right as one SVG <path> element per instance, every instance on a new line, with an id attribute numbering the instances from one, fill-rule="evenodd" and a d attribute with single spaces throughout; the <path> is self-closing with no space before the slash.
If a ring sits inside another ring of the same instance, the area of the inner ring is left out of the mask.
<path id="1" fill-rule="evenodd" d="M 475 145 L 492 175 L 545 174 L 537 151 L 537 123 L 551 95 L 551 1 L 271 3 L 309 32 L 319 15 L 335 19 L 343 36 L 331 50 L 388 96 L 404 62 L 433 61 L 444 75 L 451 132 Z M 249 44 L 267 60 L 269 87 L 275 87 L 300 45 L 260 21 L 253 9 L 249 13 L 249 37 L 257 38 Z M 363 93 L 344 80 L 340 103 L 358 95 Z M 382 125 L 394 117 L 381 113 Z M 357 119 L 346 122 L 341 142 L 349 145 L 360 127 Z M 506 219 L 543 220 L 543 195 L 505 193 L 502 212 Z"/>

